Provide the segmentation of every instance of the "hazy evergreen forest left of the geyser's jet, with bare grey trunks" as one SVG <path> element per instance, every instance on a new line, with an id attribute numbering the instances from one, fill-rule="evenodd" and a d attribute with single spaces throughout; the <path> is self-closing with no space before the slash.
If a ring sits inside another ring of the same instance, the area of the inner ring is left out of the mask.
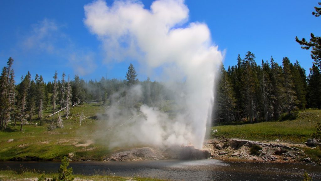
<path id="1" fill-rule="evenodd" d="M 110 104 L 111 95 L 119 93 L 120 97 L 126 95 L 126 91 L 132 85 L 142 86 L 142 96 L 137 100 L 138 104 L 156 106 L 158 100 L 169 99 L 169 94 L 164 93 L 164 86 L 149 78 L 144 81 L 137 79 L 134 66 L 130 64 L 126 73 L 126 80 L 106 79 L 102 77 L 99 81 L 85 81 L 78 75 L 74 79 L 66 79 L 65 73 L 58 80 L 57 71 L 53 81 L 45 83 L 43 77 L 38 74 L 32 78 L 28 71 L 21 77 L 20 83 L 14 81 L 12 68 L 13 58 L 9 58 L 7 66 L 3 68 L 0 76 L 0 130 L 7 128 L 8 124 L 16 126 L 20 123 L 20 130 L 24 124 L 32 122 L 43 122 L 45 110 L 52 111 L 52 122 L 54 113 L 63 109 L 63 115 L 68 118 L 70 108 L 84 102 L 96 102 L 107 106 Z M 165 98 L 164 98 L 165 97 Z M 123 104 L 128 104 L 123 103 Z M 137 104 L 137 103 L 131 103 Z"/>

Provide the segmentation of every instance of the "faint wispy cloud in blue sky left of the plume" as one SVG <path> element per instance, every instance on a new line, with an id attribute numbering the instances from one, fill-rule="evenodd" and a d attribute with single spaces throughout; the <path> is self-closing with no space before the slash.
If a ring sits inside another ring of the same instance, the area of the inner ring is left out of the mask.
<path id="1" fill-rule="evenodd" d="M 63 66 L 72 68 L 80 76 L 92 73 L 97 67 L 95 53 L 75 45 L 64 28 L 65 25 L 50 19 L 32 24 L 30 32 L 22 38 L 20 47 L 28 54 L 46 53 L 65 59 Z"/>

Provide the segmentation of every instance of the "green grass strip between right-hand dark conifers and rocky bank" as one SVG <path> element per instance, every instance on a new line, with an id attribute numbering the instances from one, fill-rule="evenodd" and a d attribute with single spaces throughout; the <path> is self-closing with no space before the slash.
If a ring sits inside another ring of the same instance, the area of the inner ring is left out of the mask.
<path id="1" fill-rule="evenodd" d="M 260 122 L 254 124 L 214 126 L 217 132 L 213 138 L 239 138 L 256 141 L 280 140 L 290 143 L 304 143 L 316 131 L 317 122 L 321 121 L 321 110 L 301 111 L 292 121 Z"/>

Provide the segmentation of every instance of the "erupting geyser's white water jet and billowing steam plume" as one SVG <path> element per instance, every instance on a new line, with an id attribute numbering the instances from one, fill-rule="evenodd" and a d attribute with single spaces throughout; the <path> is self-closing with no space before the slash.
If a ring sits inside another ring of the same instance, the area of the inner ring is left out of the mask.
<path id="1" fill-rule="evenodd" d="M 84 23 L 102 42 L 107 62 L 130 58 L 150 72 L 161 69 L 161 82 L 177 95 L 176 104 L 184 107 L 175 118 L 147 105 L 141 105 L 140 112 L 124 113 L 117 106 L 120 96 L 113 95 L 106 118 L 106 126 L 112 128 L 109 146 L 192 144 L 202 148 L 211 118 L 214 78 L 223 57 L 213 46 L 207 25 L 187 23 L 189 10 L 183 0 L 157 0 L 150 9 L 138 1 L 107 6 L 98 0 L 84 10 Z M 175 90 L 179 87 L 173 86 L 175 82 L 184 82 L 183 90 Z M 141 92 L 140 86 L 131 87 L 121 99 L 138 99 Z"/>

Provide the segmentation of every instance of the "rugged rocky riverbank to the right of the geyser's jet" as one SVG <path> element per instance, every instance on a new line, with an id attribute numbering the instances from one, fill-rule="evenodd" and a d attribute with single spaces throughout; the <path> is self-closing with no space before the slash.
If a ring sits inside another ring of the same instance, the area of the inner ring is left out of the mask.
<path id="1" fill-rule="evenodd" d="M 253 145 L 258 145 L 260 150 L 251 153 Z M 304 144 L 290 144 L 279 141 L 259 142 L 251 140 L 208 140 L 204 149 L 211 152 L 211 158 L 231 158 L 240 160 L 257 160 L 273 162 L 311 162 L 306 158 L 303 150 Z"/>

